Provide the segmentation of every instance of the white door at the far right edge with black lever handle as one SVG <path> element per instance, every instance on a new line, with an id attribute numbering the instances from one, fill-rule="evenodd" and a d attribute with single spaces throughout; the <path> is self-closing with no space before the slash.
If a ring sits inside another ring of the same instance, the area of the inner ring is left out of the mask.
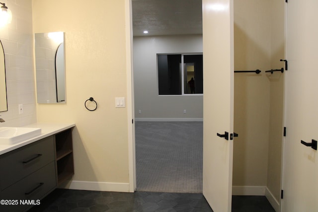
<path id="1" fill-rule="evenodd" d="M 287 3 L 283 212 L 318 212 L 318 1 Z"/>

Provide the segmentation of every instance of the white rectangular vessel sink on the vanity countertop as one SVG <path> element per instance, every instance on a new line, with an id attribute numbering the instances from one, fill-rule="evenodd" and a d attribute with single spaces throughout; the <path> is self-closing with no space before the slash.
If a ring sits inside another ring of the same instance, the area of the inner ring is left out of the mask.
<path id="1" fill-rule="evenodd" d="M 13 144 L 41 135 L 41 128 L 0 127 L 0 144 Z"/>

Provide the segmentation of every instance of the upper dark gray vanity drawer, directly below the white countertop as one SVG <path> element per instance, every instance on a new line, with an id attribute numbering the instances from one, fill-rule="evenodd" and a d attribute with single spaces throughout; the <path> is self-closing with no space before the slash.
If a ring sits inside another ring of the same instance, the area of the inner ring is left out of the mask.
<path id="1" fill-rule="evenodd" d="M 54 161 L 53 136 L 35 141 L 1 155 L 1 190 L 40 169 L 51 161 Z"/>

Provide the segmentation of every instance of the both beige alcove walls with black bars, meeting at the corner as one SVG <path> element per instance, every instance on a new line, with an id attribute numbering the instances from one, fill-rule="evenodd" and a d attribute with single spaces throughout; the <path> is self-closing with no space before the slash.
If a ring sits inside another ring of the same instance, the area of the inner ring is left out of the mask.
<path id="1" fill-rule="evenodd" d="M 267 187 L 280 196 L 283 121 L 284 3 L 236 0 L 234 186 Z"/>

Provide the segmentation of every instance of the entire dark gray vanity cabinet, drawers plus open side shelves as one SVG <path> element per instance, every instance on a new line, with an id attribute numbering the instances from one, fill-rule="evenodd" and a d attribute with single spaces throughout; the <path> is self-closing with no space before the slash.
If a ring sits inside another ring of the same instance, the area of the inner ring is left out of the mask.
<path id="1" fill-rule="evenodd" d="M 73 174 L 71 129 L 0 155 L 0 212 L 29 210 Z"/>

